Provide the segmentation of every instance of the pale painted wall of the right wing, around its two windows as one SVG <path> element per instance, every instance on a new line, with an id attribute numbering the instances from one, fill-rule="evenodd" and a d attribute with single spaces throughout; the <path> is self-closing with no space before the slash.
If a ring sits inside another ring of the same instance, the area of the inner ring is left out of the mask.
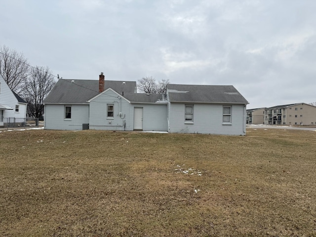
<path id="1" fill-rule="evenodd" d="M 192 103 L 188 103 L 192 104 Z M 232 123 L 223 124 L 223 105 L 193 104 L 193 124 L 185 123 L 185 104 L 169 104 L 169 132 L 245 135 L 245 106 L 232 105 Z"/>

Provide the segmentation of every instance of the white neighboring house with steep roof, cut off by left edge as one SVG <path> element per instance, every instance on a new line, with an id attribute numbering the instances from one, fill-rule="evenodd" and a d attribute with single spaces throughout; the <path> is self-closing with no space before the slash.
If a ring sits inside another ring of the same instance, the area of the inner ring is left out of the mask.
<path id="1" fill-rule="evenodd" d="M 25 122 L 27 102 L 14 93 L 0 75 L 0 126 L 17 126 Z"/>

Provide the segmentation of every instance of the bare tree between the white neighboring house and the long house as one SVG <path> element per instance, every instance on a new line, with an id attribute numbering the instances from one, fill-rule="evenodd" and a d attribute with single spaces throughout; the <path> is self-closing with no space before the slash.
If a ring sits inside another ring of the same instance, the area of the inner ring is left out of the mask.
<path id="1" fill-rule="evenodd" d="M 56 81 L 48 67 L 31 68 L 25 83 L 25 99 L 29 103 L 30 112 L 40 118 L 43 114 L 43 100 L 53 88 Z"/>

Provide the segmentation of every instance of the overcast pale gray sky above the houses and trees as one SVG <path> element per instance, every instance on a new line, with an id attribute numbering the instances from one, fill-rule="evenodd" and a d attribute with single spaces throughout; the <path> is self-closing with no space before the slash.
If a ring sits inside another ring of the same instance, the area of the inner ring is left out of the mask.
<path id="1" fill-rule="evenodd" d="M 234 85 L 316 101 L 316 0 L 0 0 L 0 45 L 63 79 Z"/>

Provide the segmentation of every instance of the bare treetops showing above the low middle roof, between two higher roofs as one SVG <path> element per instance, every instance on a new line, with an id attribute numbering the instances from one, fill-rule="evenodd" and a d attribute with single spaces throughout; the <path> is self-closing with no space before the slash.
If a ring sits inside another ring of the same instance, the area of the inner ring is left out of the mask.
<path id="1" fill-rule="evenodd" d="M 168 79 L 162 79 L 156 82 L 156 79 L 151 77 L 145 77 L 137 81 L 137 89 L 141 93 L 151 94 L 165 94 L 167 91 Z"/>

